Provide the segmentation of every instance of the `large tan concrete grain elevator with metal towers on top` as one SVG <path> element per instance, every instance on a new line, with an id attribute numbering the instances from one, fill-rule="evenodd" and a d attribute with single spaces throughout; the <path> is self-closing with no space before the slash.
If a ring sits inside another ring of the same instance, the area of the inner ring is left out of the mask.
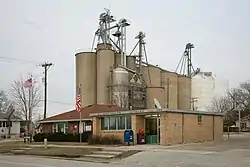
<path id="1" fill-rule="evenodd" d="M 76 60 L 76 90 L 82 87 L 82 106 L 118 105 L 126 109 L 162 107 L 189 110 L 191 78 L 152 65 L 147 60 L 145 34 L 135 37 L 137 44 L 126 50 L 127 19 L 116 21 L 109 10 L 99 17 L 91 52 L 80 52 Z M 138 54 L 134 54 L 138 50 Z"/>

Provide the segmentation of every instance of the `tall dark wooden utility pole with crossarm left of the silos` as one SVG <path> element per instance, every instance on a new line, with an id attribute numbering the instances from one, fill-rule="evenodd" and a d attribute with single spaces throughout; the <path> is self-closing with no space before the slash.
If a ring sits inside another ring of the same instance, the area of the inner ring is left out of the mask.
<path id="1" fill-rule="evenodd" d="M 50 66 L 52 66 L 52 63 L 45 62 L 41 66 L 44 68 L 44 113 L 43 113 L 43 119 L 46 118 L 47 114 L 47 77 L 48 77 L 48 69 Z"/>

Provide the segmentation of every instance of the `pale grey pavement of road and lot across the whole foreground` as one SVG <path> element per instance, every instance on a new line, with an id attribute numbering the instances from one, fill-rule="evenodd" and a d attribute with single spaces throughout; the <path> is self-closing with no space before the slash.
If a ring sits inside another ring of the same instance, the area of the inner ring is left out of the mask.
<path id="1" fill-rule="evenodd" d="M 222 143 L 148 150 L 110 164 L 0 155 L 0 167 L 249 167 L 250 134 Z"/>

